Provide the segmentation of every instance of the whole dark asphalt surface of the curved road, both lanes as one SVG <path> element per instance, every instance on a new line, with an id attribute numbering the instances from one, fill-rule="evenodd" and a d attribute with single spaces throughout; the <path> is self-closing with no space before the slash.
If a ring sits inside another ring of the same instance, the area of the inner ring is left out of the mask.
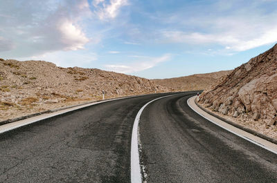
<path id="1" fill-rule="evenodd" d="M 132 125 L 147 95 L 0 134 L 0 182 L 130 182 Z M 211 124 L 181 93 L 149 104 L 139 130 L 148 182 L 277 182 L 277 155 Z"/>

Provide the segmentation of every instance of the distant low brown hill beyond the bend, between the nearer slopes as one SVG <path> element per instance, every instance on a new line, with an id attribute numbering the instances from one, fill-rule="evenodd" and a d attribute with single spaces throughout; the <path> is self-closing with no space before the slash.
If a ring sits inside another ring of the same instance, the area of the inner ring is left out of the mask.
<path id="1" fill-rule="evenodd" d="M 171 88 L 174 91 L 204 90 L 210 87 L 211 84 L 216 84 L 218 79 L 224 79 L 229 73 L 231 73 L 231 70 L 170 79 L 152 79 L 152 81 L 161 86 Z"/>

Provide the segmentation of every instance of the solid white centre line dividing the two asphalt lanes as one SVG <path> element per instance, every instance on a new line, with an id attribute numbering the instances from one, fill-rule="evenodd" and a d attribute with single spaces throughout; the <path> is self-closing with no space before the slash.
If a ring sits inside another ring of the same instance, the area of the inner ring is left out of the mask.
<path id="1" fill-rule="evenodd" d="M 179 94 L 174 94 L 179 95 Z M 170 97 L 173 95 L 166 95 L 163 97 L 159 97 L 157 99 L 153 99 L 147 104 L 145 104 L 136 115 L 136 119 L 134 119 L 134 126 L 132 131 L 132 144 L 131 144 L 131 182 L 132 183 L 141 183 L 141 166 L 139 162 L 139 119 L 141 118 L 141 113 L 143 113 L 143 109 L 148 106 L 148 104 L 165 97 Z"/>

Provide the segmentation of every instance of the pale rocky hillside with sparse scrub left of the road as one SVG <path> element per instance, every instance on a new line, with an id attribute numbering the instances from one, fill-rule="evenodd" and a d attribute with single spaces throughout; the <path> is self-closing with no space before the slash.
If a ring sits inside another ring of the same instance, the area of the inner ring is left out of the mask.
<path id="1" fill-rule="evenodd" d="M 46 61 L 0 59 L 0 121 L 105 98 L 168 92 L 149 79 Z"/>

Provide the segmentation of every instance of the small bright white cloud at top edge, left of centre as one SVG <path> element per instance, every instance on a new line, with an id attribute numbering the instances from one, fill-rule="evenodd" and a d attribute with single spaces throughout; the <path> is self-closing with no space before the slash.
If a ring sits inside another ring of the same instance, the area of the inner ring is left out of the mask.
<path id="1" fill-rule="evenodd" d="M 98 15 L 101 20 L 116 18 L 120 8 L 127 5 L 127 0 L 110 0 L 109 4 L 105 3 L 104 0 L 93 1 L 93 6 L 96 8 L 96 15 Z"/>

